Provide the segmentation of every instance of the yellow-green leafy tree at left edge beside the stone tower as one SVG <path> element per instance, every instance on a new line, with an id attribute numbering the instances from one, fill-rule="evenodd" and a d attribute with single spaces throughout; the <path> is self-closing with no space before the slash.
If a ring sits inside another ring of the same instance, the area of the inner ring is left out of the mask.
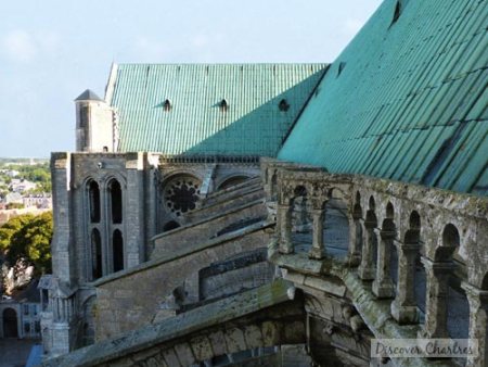
<path id="1" fill-rule="evenodd" d="M 52 213 L 22 215 L 0 228 L 0 248 L 9 266 L 34 265 L 35 271 L 51 271 Z"/>

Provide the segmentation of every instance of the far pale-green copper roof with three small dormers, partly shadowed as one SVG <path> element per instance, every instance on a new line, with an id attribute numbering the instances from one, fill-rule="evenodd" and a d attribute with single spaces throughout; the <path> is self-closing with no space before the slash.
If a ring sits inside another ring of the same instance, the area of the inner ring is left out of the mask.
<path id="1" fill-rule="evenodd" d="M 118 65 L 118 150 L 275 156 L 325 67 Z"/>

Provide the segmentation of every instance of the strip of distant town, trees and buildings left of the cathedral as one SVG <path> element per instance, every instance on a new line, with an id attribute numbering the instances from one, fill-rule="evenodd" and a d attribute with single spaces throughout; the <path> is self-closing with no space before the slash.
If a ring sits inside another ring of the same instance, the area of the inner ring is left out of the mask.
<path id="1" fill-rule="evenodd" d="M 43 274 L 51 271 L 51 211 L 49 161 L 0 157 L 0 313 L 3 316 L 3 338 L 40 338 L 42 306 L 38 287 Z"/>

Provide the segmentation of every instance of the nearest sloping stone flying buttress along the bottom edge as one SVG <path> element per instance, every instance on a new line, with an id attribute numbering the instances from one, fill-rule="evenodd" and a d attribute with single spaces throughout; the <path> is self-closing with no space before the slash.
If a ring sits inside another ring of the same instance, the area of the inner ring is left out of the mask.
<path id="1" fill-rule="evenodd" d="M 120 357 L 145 363 L 150 358 L 156 358 L 160 354 L 159 351 L 164 351 L 163 356 L 168 366 L 187 366 L 196 360 L 202 362 L 197 357 L 198 354 L 200 357 L 208 359 L 207 352 L 202 351 L 208 343 L 211 344 L 213 356 L 248 350 L 244 330 L 252 325 L 260 327 L 267 333 L 267 340 L 264 338 L 259 346 L 279 345 L 285 342 L 287 337 L 292 338 L 283 333 L 283 322 L 291 322 L 294 327 L 293 322 L 303 318 L 300 301 L 290 301 L 290 282 L 277 280 L 271 284 L 189 311 L 160 324 L 125 333 L 117 339 L 102 341 L 50 359 L 46 365 L 93 366 Z M 267 319 L 273 320 L 264 321 L 261 325 L 261 321 Z M 195 353 L 191 345 L 193 340 L 203 342 Z M 176 360 L 179 363 L 175 364 Z"/>

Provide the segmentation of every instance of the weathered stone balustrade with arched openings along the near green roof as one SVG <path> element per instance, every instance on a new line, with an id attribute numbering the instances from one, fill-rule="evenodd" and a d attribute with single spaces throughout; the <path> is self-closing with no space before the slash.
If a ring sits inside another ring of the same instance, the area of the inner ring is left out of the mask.
<path id="1" fill-rule="evenodd" d="M 458 286 L 462 283 L 458 290 L 467 299 L 470 308 L 465 338 L 479 342 L 479 356 L 468 357 L 467 365 L 488 364 L 487 198 L 329 174 L 284 162 L 265 161 L 261 169 L 267 200 L 277 203 L 281 254 L 294 256 L 297 252 L 293 211 L 295 200 L 306 197 L 312 218 L 308 257 L 333 257 L 324 237 L 324 212 L 329 201 L 342 201 L 349 225 L 348 254 L 342 261 L 345 271 L 359 277 L 374 298 L 391 300 L 390 315 L 398 327 L 416 325 L 419 338 L 450 338 L 448 298 L 452 279 L 457 279 Z M 394 253 L 397 261 L 391 263 Z M 419 271 L 425 277 L 423 309 L 415 291 Z"/>

